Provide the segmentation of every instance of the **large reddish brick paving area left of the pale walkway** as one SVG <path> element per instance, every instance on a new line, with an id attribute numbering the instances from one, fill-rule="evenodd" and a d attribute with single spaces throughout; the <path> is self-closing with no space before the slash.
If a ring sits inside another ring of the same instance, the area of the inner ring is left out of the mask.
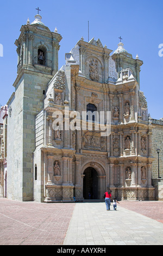
<path id="1" fill-rule="evenodd" d="M 62 245 L 74 206 L 0 198 L 0 245 Z"/>

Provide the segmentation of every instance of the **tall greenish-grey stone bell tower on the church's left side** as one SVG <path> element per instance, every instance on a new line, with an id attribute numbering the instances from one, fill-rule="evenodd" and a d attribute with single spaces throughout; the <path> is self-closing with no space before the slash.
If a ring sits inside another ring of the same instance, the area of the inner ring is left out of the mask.
<path id="1" fill-rule="evenodd" d="M 17 77 L 10 107 L 8 131 L 8 198 L 33 200 L 35 115 L 43 108 L 47 85 L 58 71 L 57 28 L 51 32 L 37 14 L 23 25 L 17 46 Z"/>

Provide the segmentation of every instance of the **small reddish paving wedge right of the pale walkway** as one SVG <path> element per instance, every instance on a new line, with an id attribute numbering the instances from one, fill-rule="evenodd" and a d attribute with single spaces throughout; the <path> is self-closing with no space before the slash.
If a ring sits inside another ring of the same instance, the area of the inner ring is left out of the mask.
<path id="1" fill-rule="evenodd" d="M 121 201 L 120 205 L 163 223 L 163 201 Z"/>

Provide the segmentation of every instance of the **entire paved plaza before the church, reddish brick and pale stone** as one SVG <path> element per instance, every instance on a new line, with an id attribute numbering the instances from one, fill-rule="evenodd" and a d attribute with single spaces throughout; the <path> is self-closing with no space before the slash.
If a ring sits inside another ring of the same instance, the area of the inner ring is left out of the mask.
<path id="1" fill-rule="evenodd" d="M 36 203 L 0 198 L 0 245 L 163 245 L 163 202 Z"/>

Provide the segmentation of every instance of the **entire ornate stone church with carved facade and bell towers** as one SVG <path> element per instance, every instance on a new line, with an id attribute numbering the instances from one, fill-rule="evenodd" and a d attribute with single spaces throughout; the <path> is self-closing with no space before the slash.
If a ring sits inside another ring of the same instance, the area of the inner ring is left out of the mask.
<path id="1" fill-rule="evenodd" d="M 8 198 L 102 199 L 110 188 L 120 200 L 153 200 L 154 126 L 140 90 L 143 62 L 122 42 L 112 53 L 99 39 L 81 38 L 58 70 L 61 39 L 36 15 L 15 42 Z"/>

